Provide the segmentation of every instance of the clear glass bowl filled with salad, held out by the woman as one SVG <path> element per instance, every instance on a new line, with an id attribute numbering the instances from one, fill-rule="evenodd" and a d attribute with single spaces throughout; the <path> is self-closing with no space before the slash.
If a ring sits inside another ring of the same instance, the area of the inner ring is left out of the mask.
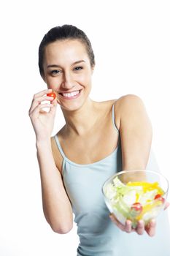
<path id="1" fill-rule="evenodd" d="M 104 182 L 102 193 L 109 211 L 125 225 L 132 227 L 142 219 L 144 225 L 163 210 L 169 190 L 169 181 L 153 170 L 123 170 Z"/>

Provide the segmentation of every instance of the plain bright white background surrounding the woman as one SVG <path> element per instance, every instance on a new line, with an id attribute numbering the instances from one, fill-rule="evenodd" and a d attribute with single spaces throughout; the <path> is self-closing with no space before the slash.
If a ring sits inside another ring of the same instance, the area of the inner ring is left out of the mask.
<path id="1" fill-rule="evenodd" d="M 54 26 L 88 35 L 96 56 L 97 101 L 136 94 L 152 121 L 152 148 L 169 168 L 169 1 L 5 1 L 1 17 L 0 255 L 76 255 L 77 227 L 54 233 L 42 213 L 35 135 L 28 117 L 33 95 L 46 89 L 38 48 Z M 58 107 L 53 135 L 63 126 Z M 169 210 L 167 210 L 169 211 Z"/>

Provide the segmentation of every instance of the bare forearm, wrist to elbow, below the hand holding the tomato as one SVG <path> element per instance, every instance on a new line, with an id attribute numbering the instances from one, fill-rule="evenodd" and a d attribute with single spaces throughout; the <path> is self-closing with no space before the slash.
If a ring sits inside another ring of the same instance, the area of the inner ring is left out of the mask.
<path id="1" fill-rule="evenodd" d="M 73 225 L 72 206 L 55 165 L 50 140 L 36 142 L 36 149 L 45 218 L 56 233 L 68 233 Z"/>

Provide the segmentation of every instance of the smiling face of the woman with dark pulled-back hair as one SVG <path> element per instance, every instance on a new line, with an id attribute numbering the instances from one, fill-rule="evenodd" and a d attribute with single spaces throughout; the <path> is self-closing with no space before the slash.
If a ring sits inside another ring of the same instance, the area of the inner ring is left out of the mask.
<path id="1" fill-rule="evenodd" d="M 76 39 L 50 43 L 44 56 L 45 83 L 57 94 L 61 108 L 76 110 L 88 98 L 93 68 L 85 45 Z"/>

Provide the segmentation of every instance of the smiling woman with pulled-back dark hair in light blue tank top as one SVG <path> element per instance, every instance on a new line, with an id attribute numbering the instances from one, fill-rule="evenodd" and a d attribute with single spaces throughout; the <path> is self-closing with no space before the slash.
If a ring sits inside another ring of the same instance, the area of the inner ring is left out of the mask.
<path id="1" fill-rule="evenodd" d="M 94 67 L 90 41 L 75 26 L 51 29 L 39 45 L 39 72 L 48 89 L 34 94 L 29 116 L 45 218 L 53 231 L 63 234 L 72 230 L 74 213 L 80 236 L 77 255 L 148 255 L 148 249 L 160 255 L 158 242 L 163 234 L 169 236 L 167 213 L 156 233 L 155 219 L 146 227 L 140 221 L 133 229 L 131 221 L 123 226 L 113 215 L 109 218 L 101 195 L 104 181 L 120 170 L 158 166 L 150 151 L 152 127 L 142 99 L 130 94 L 93 101 L 89 94 Z M 51 91 L 56 99 L 47 96 Z M 41 104 L 45 100 L 50 104 Z M 51 137 L 58 104 L 66 124 Z M 166 238 L 163 249 L 164 256 L 170 255 Z"/>

